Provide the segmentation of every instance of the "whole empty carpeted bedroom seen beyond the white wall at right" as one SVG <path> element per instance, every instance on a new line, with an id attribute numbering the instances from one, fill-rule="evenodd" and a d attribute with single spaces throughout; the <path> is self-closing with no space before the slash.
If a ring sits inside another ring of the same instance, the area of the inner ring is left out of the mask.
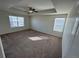
<path id="1" fill-rule="evenodd" d="M 62 58 L 71 0 L 0 0 L 0 57 Z"/>

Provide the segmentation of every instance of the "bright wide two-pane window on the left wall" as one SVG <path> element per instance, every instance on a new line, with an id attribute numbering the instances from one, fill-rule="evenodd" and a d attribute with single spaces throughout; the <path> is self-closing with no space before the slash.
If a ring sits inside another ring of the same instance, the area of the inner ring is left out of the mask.
<path id="1" fill-rule="evenodd" d="M 9 16 L 10 27 L 23 27 L 24 26 L 24 17 Z"/>

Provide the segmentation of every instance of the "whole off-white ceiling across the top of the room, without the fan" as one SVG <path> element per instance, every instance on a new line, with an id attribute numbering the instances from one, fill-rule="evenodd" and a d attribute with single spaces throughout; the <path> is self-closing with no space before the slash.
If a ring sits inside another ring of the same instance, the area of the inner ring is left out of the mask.
<path id="1" fill-rule="evenodd" d="M 58 14 L 64 14 L 69 13 L 76 1 L 78 0 L 0 0 L 0 9 L 9 10 L 11 7 L 26 8 L 28 6 L 37 10 L 55 8 Z"/>

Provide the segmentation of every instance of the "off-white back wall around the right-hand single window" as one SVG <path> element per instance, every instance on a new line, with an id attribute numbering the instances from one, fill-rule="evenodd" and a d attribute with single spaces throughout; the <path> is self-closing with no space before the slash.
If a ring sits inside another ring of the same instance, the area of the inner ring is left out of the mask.
<path id="1" fill-rule="evenodd" d="M 31 28 L 43 33 L 62 37 L 63 33 L 53 31 L 55 18 L 65 17 L 67 15 L 37 15 L 31 17 Z"/>

